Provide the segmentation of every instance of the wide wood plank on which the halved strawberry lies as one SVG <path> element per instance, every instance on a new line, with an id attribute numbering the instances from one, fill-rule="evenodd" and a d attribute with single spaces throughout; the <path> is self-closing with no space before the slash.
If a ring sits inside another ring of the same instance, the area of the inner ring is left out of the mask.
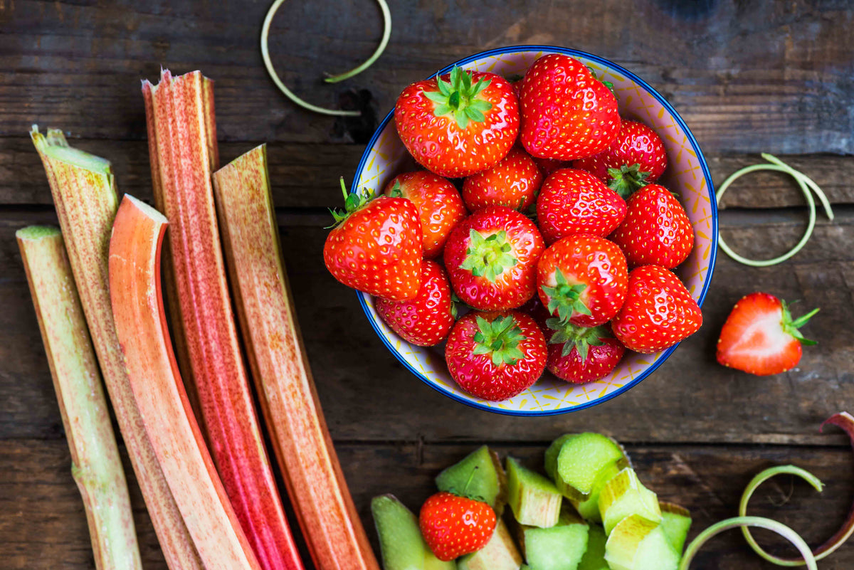
<path id="1" fill-rule="evenodd" d="M 801 231 L 798 212 L 746 219 L 726 212 L 724 235 L 751 253 L 781 252 Z M 15 248 L 15 229 L 52 219 L 50 212 L 0 218 L 0 438 L 51 438 L 60 432 L 50 375 Z M 625 441 L 839 443 L 818 425 L 836 411 L 854 410 L 854 212 L 786 265 L 751 269 L 719 256 L 705 325 L 658 371 L 629 393 L 591 410 L 557 417 L 497 416 L 456 404 L 422 385 L 377 340 L 355 294 L 326 272 L 322 216 L 282 214 L 282 239 L 294 295 L 330 430 L 336 439 L 384 441 L 530 440 L 543 430 L 597 428 Z M 758 222 L 758 223 L 757 223 Z M 714 361 L 717 334 L 740 296 L 765 290 L 800 300 L 795 311 L 822 307 L 804 329 L 819 341 L 797 369 L 757 378 Z M 424 413 L 424 410 L 430 410 Z"/>

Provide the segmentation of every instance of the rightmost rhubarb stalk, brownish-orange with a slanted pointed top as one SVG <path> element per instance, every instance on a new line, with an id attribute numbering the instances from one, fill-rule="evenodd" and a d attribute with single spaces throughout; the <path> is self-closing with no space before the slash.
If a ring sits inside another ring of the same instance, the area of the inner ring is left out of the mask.
<path id="1" fill-rule="evenodd" d="M 320 409 L 261 145 L 213 175 L 237 314 L 273 447 L 316 567 L 376 570 Z"/>

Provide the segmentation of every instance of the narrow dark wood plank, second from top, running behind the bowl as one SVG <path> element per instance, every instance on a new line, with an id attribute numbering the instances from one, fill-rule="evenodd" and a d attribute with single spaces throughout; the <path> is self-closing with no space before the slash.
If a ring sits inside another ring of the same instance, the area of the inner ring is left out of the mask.
<path id="1" fill-rule="evenodd" d="M 44 129 L 47 125 L 41 125 Z M 150 200 L 149 149 L 144 141 L 84 139 L 72 144 L 113 162 L 122 192 Z M 222 163 L 254 143 L 220 143 Z M 338 177 L 349 183 L 365 147 L 359 144 L 270 143 L 267 159 L 273 200 L 280 207 L 330 207 L 341 202 Z M 835 204 L 854 203 L 854 157 L 834 154 L 783 155 L 794 168 L 812 177 Z M 715 183 L 742 166 L 763 162 L 757 154 L 707 157 Z M 52 204 L 44 168 L 28 137 L 0 137 L 0 205 Z M 735 183 L 723 207 L 802 206 L 804 196 L 790 177 L 757 172 Z"/>

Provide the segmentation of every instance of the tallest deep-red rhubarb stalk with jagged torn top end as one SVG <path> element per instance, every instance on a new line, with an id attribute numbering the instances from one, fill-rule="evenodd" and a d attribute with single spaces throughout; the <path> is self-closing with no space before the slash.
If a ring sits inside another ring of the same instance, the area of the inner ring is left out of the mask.
<path id="1" fill-rule="evenodd" d="M 213 206 L 212 84 L 199 72 L 143 82 L 155 188 L 187 354 L 213 461 L 261 567 L 302 567 L 266 456 L 225 281 Z"/>

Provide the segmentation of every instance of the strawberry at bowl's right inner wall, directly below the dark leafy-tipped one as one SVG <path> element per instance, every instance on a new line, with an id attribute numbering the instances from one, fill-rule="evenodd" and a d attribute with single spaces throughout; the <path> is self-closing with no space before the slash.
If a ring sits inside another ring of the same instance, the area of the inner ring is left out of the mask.
<path id="1" fill-rule="evenodd" d="M 623 223 L 611 234 L 629 266 L 671 269 L 693 249 L 693 228 L 685 208 L 664 186 L 649 184 L 631 195 Z"/>

